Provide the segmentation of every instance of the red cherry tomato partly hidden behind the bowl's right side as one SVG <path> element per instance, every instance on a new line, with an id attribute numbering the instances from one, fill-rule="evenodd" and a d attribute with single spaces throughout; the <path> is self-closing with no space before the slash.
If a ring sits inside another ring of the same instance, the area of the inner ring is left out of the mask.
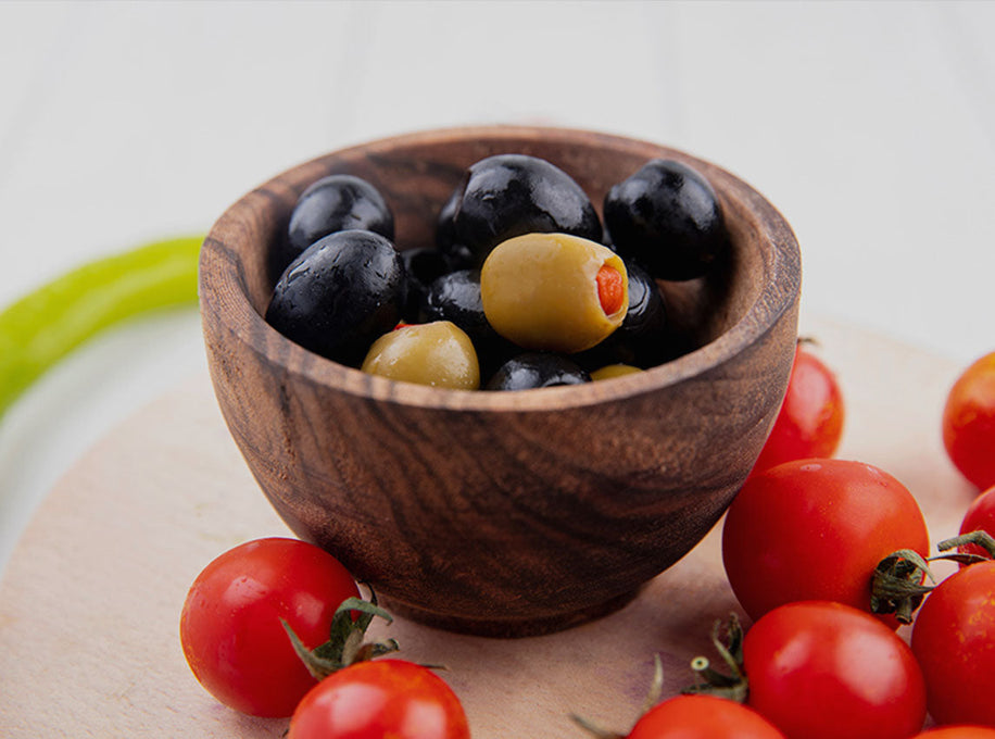
<path id="1" fill-rule="evenodd" d="M 781 410 L 754 473 L 792 460 L 832 456 L 843 436 L 843 394 L 835 376 L 798 346 Z"/>

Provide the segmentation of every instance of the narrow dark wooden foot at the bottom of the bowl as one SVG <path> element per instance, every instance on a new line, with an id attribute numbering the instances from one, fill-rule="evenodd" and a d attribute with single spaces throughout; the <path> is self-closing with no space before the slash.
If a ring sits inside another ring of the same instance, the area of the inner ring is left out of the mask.
<path id="1" fill-rule="evenodd" d="M 603 603 L 589 605 L 578 611 L 558 613 L 553 616 L 538 618 L 466 618 L 453 616 L 434 611 L 426 611 L 417 606 L 395 601 L 388 596 L 378 593 L 380 605 L 395 616 L 414 621 L 425 626 L 466 634 L 477 637 L 491 637 L 494 639 L 520 639 L 524 637 L 539 637 L 555 634 L 575 626 L 580 626 L 590 621 L 596 621 L 612 614 L 631 602 L 642 588 L 635 588 L 620 596 L 616 596 Z"/>

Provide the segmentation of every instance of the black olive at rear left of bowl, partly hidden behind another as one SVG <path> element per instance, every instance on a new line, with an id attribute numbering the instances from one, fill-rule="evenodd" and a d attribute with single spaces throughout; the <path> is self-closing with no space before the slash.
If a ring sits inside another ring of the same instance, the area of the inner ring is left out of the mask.
<path id="1" fill-rule="evenodd" d="M 279 274 L 307 247 L 340 230 L 362 229 L 394 238 L 394 216 L 383 196 L 365 179 L 330 175 L 311 185 L 290 214 L 287 239 L 274 255 L 274 274 Z"/>

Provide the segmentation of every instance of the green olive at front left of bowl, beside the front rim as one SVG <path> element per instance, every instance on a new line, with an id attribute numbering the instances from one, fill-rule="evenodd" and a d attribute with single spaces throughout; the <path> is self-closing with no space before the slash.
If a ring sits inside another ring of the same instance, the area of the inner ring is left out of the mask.
<path id="1" fill-rule="evenodd" d="M 363 372 L 390 379 L 453 390 L 480 387 L 480 367 L 470 338 L 449 321 L 395 328 L 374 341 Z"/>

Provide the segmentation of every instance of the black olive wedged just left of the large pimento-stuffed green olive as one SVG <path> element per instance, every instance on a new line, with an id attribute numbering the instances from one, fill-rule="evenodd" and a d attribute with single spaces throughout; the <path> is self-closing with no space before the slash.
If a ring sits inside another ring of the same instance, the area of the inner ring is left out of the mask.
<path id="1" fill-rule="evenodd" d="M 474 342 L 484 373 L 521 351 L 488 323 L 480 300 L 479 270 L 458 270 L 436 279 L 425 296 L 419 317 L 425 323 L 450 321 L 462 328 Z"/>

